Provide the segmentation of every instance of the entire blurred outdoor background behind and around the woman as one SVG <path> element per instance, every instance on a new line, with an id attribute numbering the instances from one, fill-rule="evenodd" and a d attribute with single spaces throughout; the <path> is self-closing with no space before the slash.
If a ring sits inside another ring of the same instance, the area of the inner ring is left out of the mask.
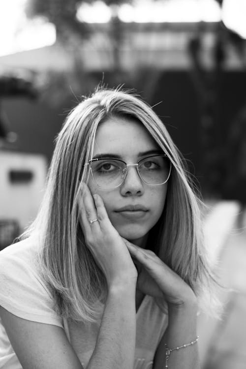
<path id="1" fill-rule="evenodd" d="M 0 249 L 36 215 L 54 138 L 98 84 L 139 93 L 187 160 L 228 286 L 223 319 L 200 318 L 202 366 L 245 369 L 246 1 L 0 2 Z"/>

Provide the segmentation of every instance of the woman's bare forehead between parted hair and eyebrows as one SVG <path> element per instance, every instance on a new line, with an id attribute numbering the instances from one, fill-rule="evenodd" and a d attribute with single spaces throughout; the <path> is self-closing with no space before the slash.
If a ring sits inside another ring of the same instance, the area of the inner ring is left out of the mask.
<path id="1" fill-rule="evenodd" d="M 130 118 L 112 117 L 97 128 L 93 156 L 110 153 L 127 157 L 158 148 L 142 123 Z"/>

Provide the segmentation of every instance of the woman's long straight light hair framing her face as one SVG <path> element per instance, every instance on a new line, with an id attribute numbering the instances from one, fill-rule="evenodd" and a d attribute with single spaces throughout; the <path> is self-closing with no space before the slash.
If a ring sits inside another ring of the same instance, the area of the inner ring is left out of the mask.
<path id="1" fill-rule="evenodd" d="M 103 308 L 106 280 L 85 245 L 79 224 L 81 183 L 89 178 L 93 142 L 98 124 L 112 116 L 141 122 L 167 154 L 172 171 L 163 214 L 149 240 L 158 256 L 193 289 L 200 306 L 213 277 L 203 242 L 200 201 L 188 176 L 185 162 L 165 125 L 140 98 L 119 90 L 97 90 L 67 116 L 56 138 L 47 187 L 39 214 L 24 233 L 40 238 L 40 267 L 61 316 L 92 322 Z"/>

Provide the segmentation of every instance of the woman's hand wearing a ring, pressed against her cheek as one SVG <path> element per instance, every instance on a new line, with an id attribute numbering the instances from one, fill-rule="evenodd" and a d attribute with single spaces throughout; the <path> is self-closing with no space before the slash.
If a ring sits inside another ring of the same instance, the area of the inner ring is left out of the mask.
<path id="1" fill-rule="evenodd" d="M 137 270 L 129 251 L 110 222 L 102 198 L 99 195 L 92 198 L 86 184 L 83 184 L 79 212 L 86 245 L 104 273 L 108 287 L 130 283 L 135 288 Z M 94 219 L 98 220 L 90 223 Z"/>

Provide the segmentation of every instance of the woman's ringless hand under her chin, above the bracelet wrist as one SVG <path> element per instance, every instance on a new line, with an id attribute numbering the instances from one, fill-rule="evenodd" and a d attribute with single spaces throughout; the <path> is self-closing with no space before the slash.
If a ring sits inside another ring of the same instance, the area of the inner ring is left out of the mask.
<path id="1" fill-rule="evenodd" d="M 137 266 L 137 288 L 147 295 L 161 298 L 168 307 L 196 304 L 192 289 L 184 280 L 163 263 L 151 250 L 146 250 L 125 240 Z"/>

